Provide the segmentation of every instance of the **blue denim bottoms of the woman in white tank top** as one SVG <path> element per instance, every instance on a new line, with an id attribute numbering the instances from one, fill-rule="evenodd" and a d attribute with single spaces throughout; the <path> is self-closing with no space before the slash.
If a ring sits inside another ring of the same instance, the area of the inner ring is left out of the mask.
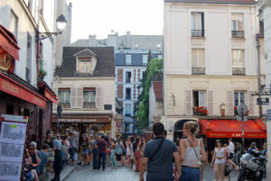
<path id="1" fill-rule="evenodd" d="M 182 166 L 182 176 L 180 177 L 179 181 L 200 181 L 200 180 L 201 180 L 200 168 Z"/>

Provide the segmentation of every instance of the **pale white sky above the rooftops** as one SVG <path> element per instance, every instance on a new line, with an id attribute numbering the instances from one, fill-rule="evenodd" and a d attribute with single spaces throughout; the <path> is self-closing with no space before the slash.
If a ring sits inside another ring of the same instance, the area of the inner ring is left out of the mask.
<path id="1" fill-rule="evenodd" d="M 67 0 L 72 3 L 71 42 L 107 38 L 111 31 L 162 35 L 164 0 Z"/>

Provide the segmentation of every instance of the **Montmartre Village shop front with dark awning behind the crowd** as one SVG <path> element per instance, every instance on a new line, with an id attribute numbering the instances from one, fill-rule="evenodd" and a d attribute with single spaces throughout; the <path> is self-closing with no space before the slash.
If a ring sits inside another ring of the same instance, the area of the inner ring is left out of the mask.
<path id="1" fill-rule="evenodd" d="M 69 129 L 79 132 L 79 136 L 83 133 L 87 133 L 88 136 L 99 133 L 109 136 L 112 130 L 111 123 L 112 115 L 110 114 L 64 114 L 61 118 L 53 115 L 52 129 L 62 135 Z"/>

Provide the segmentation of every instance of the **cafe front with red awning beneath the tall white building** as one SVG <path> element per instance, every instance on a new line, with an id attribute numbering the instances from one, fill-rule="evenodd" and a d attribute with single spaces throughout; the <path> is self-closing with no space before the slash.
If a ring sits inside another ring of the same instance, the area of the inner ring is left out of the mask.
<path id="1" fill-rule="evenodd" d="M 242 122 L 237 120 L 200 120 L 201 135 L 208 145 L 208 149 L 215 147 L 217 139 L 222 143 L 229 144 L 229 138 L 233 142 L 242 142 Z M 257 147 L 263 146 L 266 141 L 266 124 L 260 119 L 244 122 L 245 148 L 250 146 L 252 141 L 257 142 Z"/>

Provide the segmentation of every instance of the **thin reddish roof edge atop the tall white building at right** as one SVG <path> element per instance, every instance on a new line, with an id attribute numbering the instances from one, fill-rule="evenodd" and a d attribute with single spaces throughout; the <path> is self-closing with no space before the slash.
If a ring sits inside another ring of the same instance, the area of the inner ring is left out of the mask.
<path id="1" fill-rule="evenodd" d="M 203 3 L 203 4 L 237 4 L 255 5 L 255 0 L 164 0 L 165 3 Z"/>

